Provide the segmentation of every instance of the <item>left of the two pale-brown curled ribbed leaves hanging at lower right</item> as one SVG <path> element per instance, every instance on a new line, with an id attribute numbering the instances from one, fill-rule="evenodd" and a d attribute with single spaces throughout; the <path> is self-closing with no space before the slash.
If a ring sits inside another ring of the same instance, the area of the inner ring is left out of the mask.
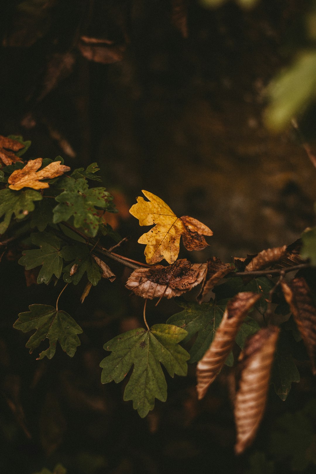
<path id="1" fill-rule="evenodd" d="M 204 397 L 208 386 L 215 380 L 223 367 L 243 320 L 259 298 L 260 295 L 257 293 L 242 292 L 228 301 L 215 338 L 197 366 L 199 400 Z"/>

